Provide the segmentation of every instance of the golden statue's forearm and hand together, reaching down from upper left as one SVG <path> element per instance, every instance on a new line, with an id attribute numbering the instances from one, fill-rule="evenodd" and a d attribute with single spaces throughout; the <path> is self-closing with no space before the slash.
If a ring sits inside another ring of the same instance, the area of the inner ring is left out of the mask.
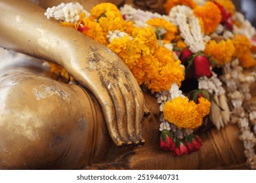
<path id="1" fill-rule="evenodd" d="M 0 46 L 62 65 L 95 95 L 117 146 L 144 143 L 144 98 L 125 63 L 79 31 L 47 20 L 44 12 L 29 1 L 0 1 Z"/>

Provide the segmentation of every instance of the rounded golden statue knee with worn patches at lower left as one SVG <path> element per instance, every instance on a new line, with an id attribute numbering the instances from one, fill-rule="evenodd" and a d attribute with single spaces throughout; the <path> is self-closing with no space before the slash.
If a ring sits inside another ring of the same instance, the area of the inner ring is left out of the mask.
<path id="1" fill-rule="evenodd" d="M 93 105 L 75 87 L 31 73 L 0 77 L 0 169 L 78 169 L 89 164 Z"/>

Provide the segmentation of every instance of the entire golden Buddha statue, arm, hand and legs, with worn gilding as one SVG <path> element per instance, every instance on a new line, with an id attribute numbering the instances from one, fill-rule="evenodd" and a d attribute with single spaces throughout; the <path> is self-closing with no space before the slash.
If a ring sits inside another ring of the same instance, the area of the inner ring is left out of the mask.
<path id="1" fill-rule="evenodd" d="M 158 103 L 142 93 L 121 59 L 47 20 L 33 3 L 2 0 L 0 8 L 0 46 L 62 65 L 78 82 L 50 78 L 35 58 L 0 60 L 0 169 L 246 168 L 232 124 L 203 133 L 202 149 L 188 156 L 160 150 L 152 135 Z"/>

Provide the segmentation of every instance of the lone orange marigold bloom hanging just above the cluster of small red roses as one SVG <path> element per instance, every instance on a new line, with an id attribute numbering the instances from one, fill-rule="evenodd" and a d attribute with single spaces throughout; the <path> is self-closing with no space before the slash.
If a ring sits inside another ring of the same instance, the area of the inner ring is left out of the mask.
<path id="1" fill-rule="evenodd" d="M 188 101 L 188 98 L 177 97 L 167 101 L 163 107 L 163 116 L 172 124 L 179 128 L 194 129 L 202 125 L 203 117 L 209 114 L 211 103 L 203 97 L 199 99 L 199 104 Z"/>

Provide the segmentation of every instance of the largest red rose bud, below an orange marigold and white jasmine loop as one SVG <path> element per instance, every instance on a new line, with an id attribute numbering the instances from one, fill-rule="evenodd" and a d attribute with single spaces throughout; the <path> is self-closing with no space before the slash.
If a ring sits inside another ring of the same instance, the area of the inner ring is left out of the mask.
<path id="1" fill-rule="evenodd" d="M 207 76 L 209 78 L 213 75 L 210 70 L 209 58 L 205 56 L 196 56 L 194 59 L 194 67 L 196 78 L 200 78 L 201 76 Z"/>

